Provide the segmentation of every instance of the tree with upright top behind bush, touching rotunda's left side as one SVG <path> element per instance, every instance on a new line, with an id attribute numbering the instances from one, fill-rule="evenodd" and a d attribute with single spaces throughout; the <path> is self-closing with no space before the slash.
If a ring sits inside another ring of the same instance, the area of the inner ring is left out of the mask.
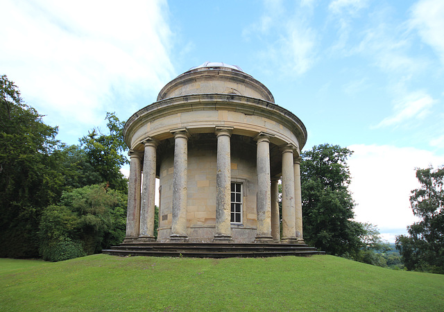
<path id="1" fill-rule="evenodd" d="M 107 113 L 107 127 L 109 134 L 105 135 L 98 129 L 93 129 L 88 135 L 80 139 L 89 164 L 98 173 L 102 182 L 106 182 L 112 189 L 127 191 L 127 181 L 120 172 L 121 166 L 128 164 L 124 152 L 128 149 L 123 141 L 123 121 L 119 121 L 114 113 Z"/>

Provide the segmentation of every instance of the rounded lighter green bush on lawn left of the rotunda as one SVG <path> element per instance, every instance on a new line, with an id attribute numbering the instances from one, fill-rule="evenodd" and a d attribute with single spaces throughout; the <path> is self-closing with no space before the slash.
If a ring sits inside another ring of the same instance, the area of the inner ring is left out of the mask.
<path id="1" fill-rule="evenodd" d="M 56 261 L 60 254 L 55 248 L 72 250 L 78 243 L 86 254 L 121 243 L 126 231 L 126 199 L 126 193 L 101 184 L 63 193 L 58 205 L 50 205 L 42 215 L 40 252 L 44 259 Z"/>

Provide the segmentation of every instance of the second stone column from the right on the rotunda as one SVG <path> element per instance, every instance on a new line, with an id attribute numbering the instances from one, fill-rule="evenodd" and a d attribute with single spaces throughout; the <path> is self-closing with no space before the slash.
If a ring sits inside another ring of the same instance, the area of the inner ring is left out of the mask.
<path id="1" fill-rule="evenodd" d="M 293 146 L 282 147 L 282 241 L 297 243 Z"/>

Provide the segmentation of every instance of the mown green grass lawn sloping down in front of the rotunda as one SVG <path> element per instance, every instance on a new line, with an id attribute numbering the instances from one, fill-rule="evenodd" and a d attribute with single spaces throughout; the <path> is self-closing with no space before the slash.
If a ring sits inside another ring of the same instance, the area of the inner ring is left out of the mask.
<path id="1" fill-rule="evenodd" d="M 332 256 L 10 262 L 0 259 L 0 311 L 444 310 L 444 275 Z"/>

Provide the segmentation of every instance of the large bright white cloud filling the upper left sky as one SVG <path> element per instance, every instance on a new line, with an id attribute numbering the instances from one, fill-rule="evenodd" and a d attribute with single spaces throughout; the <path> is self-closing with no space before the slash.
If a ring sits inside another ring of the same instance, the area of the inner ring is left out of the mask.
<path id="1" fill-rule="evenodd" d="M 106 111 L 128 117 L 134 96 L 155 97 L 173 76 L 167 12 L 165 1 L 3 1 L 0 67 L 67 132 Z"/>

